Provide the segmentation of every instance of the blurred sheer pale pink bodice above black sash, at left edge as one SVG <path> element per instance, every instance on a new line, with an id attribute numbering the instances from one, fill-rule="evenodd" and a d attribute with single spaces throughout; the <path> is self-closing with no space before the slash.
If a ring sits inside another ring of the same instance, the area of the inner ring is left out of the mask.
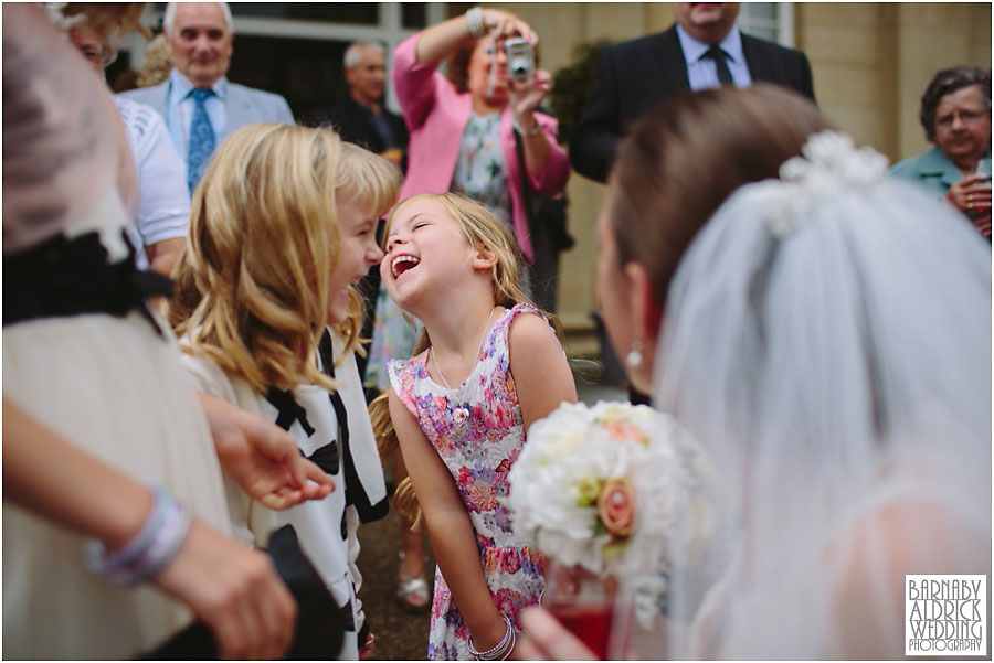
<path id="1" fill-rule="evenodd" d="M 107 86 L 30 4 L 3 4 L 3 253 L 64 231 L 120 174 Z"/>

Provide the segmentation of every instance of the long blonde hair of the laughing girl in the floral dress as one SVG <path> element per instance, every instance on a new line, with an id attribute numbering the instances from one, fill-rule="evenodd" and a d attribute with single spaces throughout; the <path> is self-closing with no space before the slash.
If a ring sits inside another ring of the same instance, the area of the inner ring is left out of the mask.
<path id="1" fill-rule="evenodd" d="M 470 246 L 480 247 L 491 253 L 496 260 L 490 268 L 490 276 L 494 284 L 494 300 L 497 306 L 511 308 L 518 303 L 529 303 L 535 306 L 521 288 L 521 265 L 524 260 L 518 252 L 518 245 L 507 226 L 497 218 L 490 210 L 483 203 L 465 195 L 446 192 L 446 193 L 420 193 L 401 201 L 396 207 L 390 213 L 387 220 L 387 226 L 383 229 L 383 248 L 387 246 L 387 238 L 390 236 L 390 227 L 398 212 L 404 205 L 417 200 L 432 200 L 441 204 L 450 216 L 458 224 Z M 538 308 L 538 307 L 536 307 Z M 562 328 L 559 319 L 552 313 L 542 311 L 542 313 L 551 322 L 556 334 L 562 342 Z M 427 350 L 432 344 L 427 329 L 422 329 L 421 336 L 414 349 L 417 355 Z M 381 394 L 369 405 L 370 419 L 373 425 L 373 432 L 377 437 L 377 447 L 380 450 L 380 458 L 387 459 L 398 447 L 396 432 L 393 429 L 393 421 L 390 419 L 389 404 L 387 395 Z M 412 530 L 419 530 L 421 525 L 421 507 L 414 495 L 410 477 L 403 479 L 396 485 L 393 495 L 394 507 L 398 513 L 408 518 L 412 523 Z"/>

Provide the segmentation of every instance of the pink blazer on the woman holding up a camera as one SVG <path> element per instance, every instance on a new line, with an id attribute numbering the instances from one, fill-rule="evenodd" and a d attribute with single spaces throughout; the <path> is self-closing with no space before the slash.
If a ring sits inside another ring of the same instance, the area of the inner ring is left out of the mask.
<path id="1" fill-rule="evenodd" d="M 440 63 L 417 64 L 415 46 L 420 33 L 408 38 L 393 52 L 393 85 L 411 133 L 408 143 L 408 174 L 401 186 L 401 200 L 416 193 L 444 193 L 452 184 L 463 129 L 469 121 L 473 100 L 469 93 L 459 93 L 445 76 L 436 72 Z M 567 152 L 556 141 L 559 124 L 537 113 L 536 119 L 549 137 L 552 149 L 546 170 L 528 173 L 531 186 L 541 195 L 554 195 L 565 188 L 570 177 Z M 500 116 L 500 143 L 510 183 L 511 220 L 518 248 L 531 263 L 535 252 L 521 195 L 521 173 L 515 151 L 510 106 Z"/>

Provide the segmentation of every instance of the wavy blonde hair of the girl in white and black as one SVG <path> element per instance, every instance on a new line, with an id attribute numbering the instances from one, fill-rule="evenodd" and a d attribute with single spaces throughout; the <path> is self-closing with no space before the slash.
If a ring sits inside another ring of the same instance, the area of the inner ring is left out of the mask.
<path id="1" fill-rule="evenodd" d="M 193 193 L 188 242 L 167 316 L 184 350 L 264 393 L 334 383 L 314 355 L 327 324 L 340 250 L 336 203 L 382 214 L 396 200 L 390 162 L 327 129 L 256 124 L 222 143 Z M 359 349 L 362 306 L 350 289 L 337 325 Z M 361 349 L 360 349 L 361 351 Z"/>

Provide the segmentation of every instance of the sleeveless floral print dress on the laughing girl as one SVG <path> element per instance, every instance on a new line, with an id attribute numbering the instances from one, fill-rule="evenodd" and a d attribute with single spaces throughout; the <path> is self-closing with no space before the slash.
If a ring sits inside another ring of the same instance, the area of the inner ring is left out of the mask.
<path id="1" fill-rule="evenodd" d="M 448 389 L 427 372 L 429 352 L 389 365 L 390 383 L 455 480 L 476 532 L 480 564 L 497 609 L 517 627 L 518 612 L 538 605 L 544 579 L 538 550 L 515 536 L 507 474 L 525 443 L 521 406 L 510 374 L 508 330 L 530 304 L 508 309 L 490 328 L 476 365 Z M 429 660 L 470 660 L 469 630 L 442 573 L 435 569 Z"/>

